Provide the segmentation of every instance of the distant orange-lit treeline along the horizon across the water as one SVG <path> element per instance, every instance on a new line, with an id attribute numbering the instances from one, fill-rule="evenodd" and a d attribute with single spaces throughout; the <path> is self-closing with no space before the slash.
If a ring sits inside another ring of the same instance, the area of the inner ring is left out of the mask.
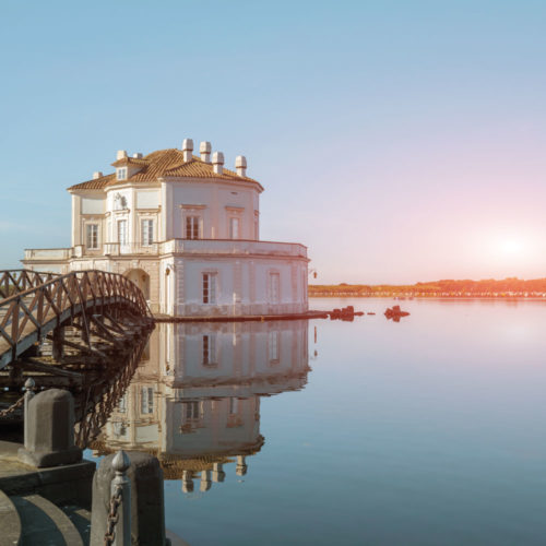
<path id="1" fill-rule="evenodd" d="M 412 285 L 366 285 L 366 284 L 335 284 L 309 285 L 309 296 L 357 296 L 357 297 L 546 297 L 546 278 L 523 281 L 517 277 L 496 281 L 434 281 Z"/>

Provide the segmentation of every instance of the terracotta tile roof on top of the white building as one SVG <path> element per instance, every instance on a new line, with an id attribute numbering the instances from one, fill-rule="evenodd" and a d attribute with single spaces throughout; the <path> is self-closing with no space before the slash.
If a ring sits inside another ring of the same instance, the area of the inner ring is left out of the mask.
<path id="1" fill-rule="evenodd" d="M 158 150 L 152 152 L 142 159 L 128 158 L 130 163 L 142 166 L 143 168 L 129 177 L 129 182 L 150 182 L 155 181 L 159 177 L 176 177 L 176 178 L 216 178 L 221 180 L 245 180 L 247 182 L 254 182 L 261 185 L 249 177 L 238 176 L 233 170 L 224 168 L 222 175 L 216 175 L 212 164 L 204 163 L 200 157 L 193 156 L 189 162 L 183 161 L 183 153 L 181 150 L 169 149 Z M 126 163 L 127 159 L 120 159 Z M 116 166 L 120 162 L 112 163 Z M 86 182 L 76 183 L 71 186 L 69 190 L 98 190 L 107 186 L 112 186 L 117 182 L 116 175 L 106 175 L 96 180 L 87 180 Z"/>

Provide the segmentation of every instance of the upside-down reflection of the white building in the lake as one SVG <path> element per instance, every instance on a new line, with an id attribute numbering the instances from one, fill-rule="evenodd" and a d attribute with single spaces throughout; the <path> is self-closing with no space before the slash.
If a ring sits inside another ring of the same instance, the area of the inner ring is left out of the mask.
<path id="1" fill-rule="evenodd" d="M 93 447 L 154 453 L 185 491 L 223 482 L 223 464 L 262 444 L 260 396 L 307 381 L 307 321 L 164 323 Z"/>

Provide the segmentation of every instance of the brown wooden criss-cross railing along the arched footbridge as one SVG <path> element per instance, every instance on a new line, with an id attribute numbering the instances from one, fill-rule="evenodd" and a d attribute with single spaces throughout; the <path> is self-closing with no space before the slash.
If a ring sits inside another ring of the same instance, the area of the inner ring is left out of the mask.
<path id="1" fill-rule="evenodd" d="M 96 270 L 52 276 L 0 300 L 0 368 L 67 319 L 119 302 L 131 305 L 144 317 L 151 314 L 134 283 L 120 274 Z"/>

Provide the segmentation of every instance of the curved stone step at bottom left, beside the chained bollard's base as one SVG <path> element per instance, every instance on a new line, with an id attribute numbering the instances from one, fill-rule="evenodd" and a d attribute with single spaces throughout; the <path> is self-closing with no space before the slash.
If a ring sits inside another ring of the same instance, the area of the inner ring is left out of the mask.
<path id="1" fill-rule="evenodd" d="M 39 495 L 11 497 L 22 523 L 21 546 L 84 546 L 70 518 Z"/>

